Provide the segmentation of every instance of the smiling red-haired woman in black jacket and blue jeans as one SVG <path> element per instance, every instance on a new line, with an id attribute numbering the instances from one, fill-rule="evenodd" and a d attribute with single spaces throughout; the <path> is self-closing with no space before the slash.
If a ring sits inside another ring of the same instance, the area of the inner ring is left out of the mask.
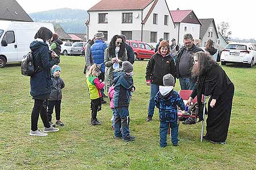
<path id="1" fill-rule="evenodd" d="M 176 77 L 174 59 L 171 57 L 170 45 L 167 41 L 161 41 L 158 51 L 150 58 L 146 68 L 146 84 L 150 86 L 150 100 L 148 103 L 148 116 L 146 121 L 151 121 L 155 109 L 155 95 L 159 86 L 163 86 L 163 76 L 172 74 Z"/>

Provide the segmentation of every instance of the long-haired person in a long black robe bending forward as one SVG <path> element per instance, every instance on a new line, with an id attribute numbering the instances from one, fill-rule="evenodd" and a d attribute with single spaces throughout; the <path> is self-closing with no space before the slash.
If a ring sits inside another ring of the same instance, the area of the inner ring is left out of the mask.
<path id="1" fill-rule="evenodd" d="M 208 53 L 197 52 L 192 68 L 193 76 L 198 76 L 196 88 L 188 100 L 188 105 L 197 96 L 210 96 L 208 102 L 207 133 L 204 139 L 212 143 L 225 144 L 231 116 L 234 84 L 225 71 Z M 203 105 L 199 102 L 199 113 L 203 113 Z M 199 115 L 199 121 L 203 115 Z"/>

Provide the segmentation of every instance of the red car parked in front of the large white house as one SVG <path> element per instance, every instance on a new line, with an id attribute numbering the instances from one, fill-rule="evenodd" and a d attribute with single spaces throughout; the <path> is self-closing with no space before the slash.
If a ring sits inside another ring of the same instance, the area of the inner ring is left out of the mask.
<path id="1" fill-rule="evenodd" d="M 134 59 L 151 58 L 155 54 L 154 49 L 146 42 L 137 40 L 126 40 L 126 42 L 133 48 Z"/>

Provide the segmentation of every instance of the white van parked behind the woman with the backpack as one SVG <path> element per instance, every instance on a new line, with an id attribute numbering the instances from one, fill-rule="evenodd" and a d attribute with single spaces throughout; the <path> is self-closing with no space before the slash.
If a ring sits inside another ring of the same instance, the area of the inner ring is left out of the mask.
<path id="1" fill-rule="evenodd" d="M 51 23 L 0 20 L 0 67 L 10 62 L 21 62 L 30 51 L 30 43 L 40 27 L 46 27 L 54 33 Z"/>

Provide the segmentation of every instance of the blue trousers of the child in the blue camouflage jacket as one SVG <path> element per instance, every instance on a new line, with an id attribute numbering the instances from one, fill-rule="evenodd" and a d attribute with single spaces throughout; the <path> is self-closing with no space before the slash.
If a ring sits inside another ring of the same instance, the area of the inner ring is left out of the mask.
<path id="1" fill-rule="evenodd" d="M 179 125 L 177 124 L 177 121 L 174 121 L 171 123 L 160 121 L 160 128 L 159 128 L 160 147 L 165 147 L 167 145 L 167 131 L 168 131 L 169 125 L 171 128 L 172 145 L 177 145 L 177 142 L 178 142 L 177 134 L 179 129 Z"/>

